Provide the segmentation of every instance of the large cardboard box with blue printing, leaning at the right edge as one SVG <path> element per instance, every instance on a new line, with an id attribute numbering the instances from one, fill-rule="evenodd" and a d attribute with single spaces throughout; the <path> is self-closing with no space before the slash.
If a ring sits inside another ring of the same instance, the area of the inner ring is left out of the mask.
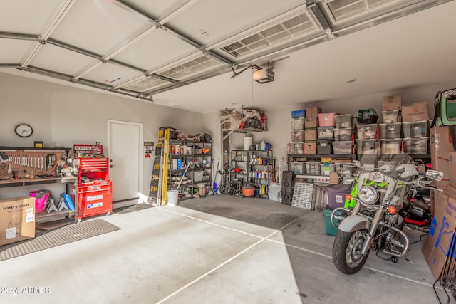
<path id="1" fill-rule="evenodd" d="M 448 186 L 435 200 L 435 214 L 423 246 L 423 255 L 434 278 L 440 278 L 455 257 L 456 188 Z"/>

